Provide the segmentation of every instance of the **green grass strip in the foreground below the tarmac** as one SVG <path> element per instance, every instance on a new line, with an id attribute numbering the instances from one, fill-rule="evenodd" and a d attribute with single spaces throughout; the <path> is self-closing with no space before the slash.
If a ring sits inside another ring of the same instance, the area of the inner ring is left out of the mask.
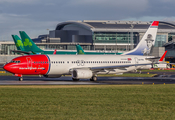
<path id="1" fill-rule="evenodd" d="M 0 86 L 0 119 L 175 119 L 175 85 Z"/>

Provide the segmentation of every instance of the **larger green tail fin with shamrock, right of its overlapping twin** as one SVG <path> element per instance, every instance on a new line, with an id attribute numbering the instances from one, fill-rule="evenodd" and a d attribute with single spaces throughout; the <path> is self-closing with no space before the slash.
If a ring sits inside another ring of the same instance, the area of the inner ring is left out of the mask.
<path id="1" fill-rule="evenodd" d="M 24 49 L 26 51 L 33 51 L 33 52 L 43 51 L 30 39 L 30 37 L 24 31 L 19 31 L 19 33 L 20 33 L 22 42 L 24 44 Z"/>

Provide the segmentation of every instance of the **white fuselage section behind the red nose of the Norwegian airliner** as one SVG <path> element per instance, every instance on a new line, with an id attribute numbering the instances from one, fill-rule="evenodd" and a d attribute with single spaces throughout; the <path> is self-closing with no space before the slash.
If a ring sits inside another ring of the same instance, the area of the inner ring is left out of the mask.
<path id="1" fill-rule="evenodd" d="M 116 74 L 138 69 L 137 64 L 151 64 L 145 58 L 151 56 L 136 55 L 48 55 L 50 70 L 48 75 L 71 74 L 73 69 L 103 69 L 97 74 Z M 132 65 L 127 66 L 125 65 Z M 137 66 L 135 66 L 137 65 Z M 115 67 L 116 66 L 116 67 Z M 107 69 L 105 69 L 107 67 Z M 111 67 L 111 69 L 110 69 Z"/>

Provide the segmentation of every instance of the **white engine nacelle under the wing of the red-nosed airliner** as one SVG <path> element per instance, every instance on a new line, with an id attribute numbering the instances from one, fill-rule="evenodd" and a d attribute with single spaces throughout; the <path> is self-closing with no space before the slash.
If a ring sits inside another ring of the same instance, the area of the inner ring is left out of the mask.
<path id="1" fill-rule="evenodd" d="M 88 69 L 75 69 L 72 74 L 74 79 L 90 79 L 92 76 L 92 71 Z"/>

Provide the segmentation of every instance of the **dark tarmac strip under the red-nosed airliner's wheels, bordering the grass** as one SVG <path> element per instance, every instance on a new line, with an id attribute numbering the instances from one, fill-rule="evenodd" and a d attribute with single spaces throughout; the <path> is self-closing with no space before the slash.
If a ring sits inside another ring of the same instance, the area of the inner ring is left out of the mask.
<path id="1" fill-rule="evenodd" d="M 87 80 L 72 81 L 71 77 L 44 78 L 24 76 L 18 81 L 15 76 L 0 76 L 0 85 L 108 85 L 108 84 L 175 84 L 175 77 L 98 77 L 96 82 Z"/>

